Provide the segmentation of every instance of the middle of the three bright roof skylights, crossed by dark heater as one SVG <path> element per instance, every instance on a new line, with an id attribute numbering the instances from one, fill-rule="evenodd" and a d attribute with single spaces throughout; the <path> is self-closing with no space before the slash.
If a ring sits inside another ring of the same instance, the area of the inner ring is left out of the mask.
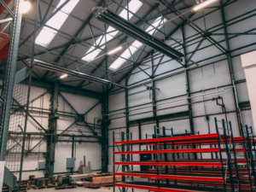
<path id="1" fill-rule="evenodd" d="M 129 10 L 132 13 L 136 13 L 138 9 L 140 9 L 142 7 L 143 3 L 141 3 L 139 0 L 131 0 L 131 2 L 129 3 Z M 127 9 L 127 6 L 126 6 Z M 119 14 L 120 17 L 124 18 L 125 20 L 127 20 L 127 10 L 123 9 L 122 12 Z M 129 13 L 129 19 L 131 19 L 133 15 L 131 13 Z M 114 36 L 116 36 L 116 34 L 119 31 L 115 31 L 113 32 L 115 29 L 112 26 L 108 26 L 107 29 L 107 42 L 110 41 Z M 102 45 L 105 44 L 105 36 L 102 35 L 100 38 L 98 38 L 96 40 L 96 44 L 94 44 L 94 46 L 91 46 L 90 49 L 86 52 L 86 55 L 82 58 L 82 60 L 84 61 L 93 61 L 96 56 L 102 51 L 101 49 L 104 49 L 106 45 Z M 101 46 L 101 49 L 95 49 L 95 46 Z"/>

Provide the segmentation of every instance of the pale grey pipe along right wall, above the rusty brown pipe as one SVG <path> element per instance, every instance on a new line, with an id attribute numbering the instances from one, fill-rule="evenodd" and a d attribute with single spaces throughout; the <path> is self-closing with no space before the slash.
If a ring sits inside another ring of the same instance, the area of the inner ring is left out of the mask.
<path id="1" fill-rule="evenodd" d="M 207 94 L 202 94 L 202 95 L 199 95 L 199 96 L 189 96 L 189 97 L 186 97 L 186 98 L 183 98 L 183 99 L 177 99 L 177 100 L 174 100 L 172 102 L 181 102 L 181 101 L 188 100 L 188 99 L 193 99 L 193 98 L 196 98 L 196 97 L 209 96 L 209 95 L 212 95 L 212 94 L 224 92 L 225 90 L 230 90 L 232 88 L 233 88 L 233 86 L 231 86 L 229 88 L 226 88 L 226 89 L 223 89 L 223 90 L 214 91 L 214 92 L 210 92 L 210 93 L 207 93 Z M 170 104 L 172 102 L 163 102 L 163 103 L 160 103 L 160 104 L 150 105 L 150 106 L 143 107 L 143 108 L 135 108 L 135 109 L 132 109 L 130 111 L 125 111 L 125 112 L 122 112 L 122 113 L 114 113 L 114 114 L 111 114 L 111 115 L 110 114 L 102 114 L 102 115 L 112 117 L 112 116 L 115 116 L 115 115 L 118 115 L 118 114 L 131 113 L 133 111 L 142 110 L 144 108 L 152 108 L 154 106 L 166 105 L 166 104 Z"/>

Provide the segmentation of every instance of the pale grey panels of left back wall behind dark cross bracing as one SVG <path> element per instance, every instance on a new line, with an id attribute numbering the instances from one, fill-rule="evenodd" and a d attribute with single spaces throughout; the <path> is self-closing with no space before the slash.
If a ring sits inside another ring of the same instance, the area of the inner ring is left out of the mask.
<path id="1" fill-rule="evenodd" d="M 16 91 L 14 96 L 15 98 L 20 98 L 22 96 L 21 94 L 27 93 L 27 85 L 24 84 L 17 84 L 15 85 L 15 89 L 25 89 L 23 93 L 22 91 Z M 19 89 L 19 90 L 20 90 Z M 34 100 L 41 94 L 45 93 L 47 90 L 44 88 L 39 88 L 36 86 L 32 86 L 31 90 L 31 96 L 30 101 Z M 78 113 L 85 113 L 90 108 L 92 108 L 97 102 L 99 102 L 98 99 L 87 97 L 87 96 L 79 96 L 75 94 L 70 94 L 67 92 L 61 92 L 61 95 L 64 96 L 69 102 L 73 108 Z M 24 98 L 23 98 L 24 97 Z M 50 108 L 50 97 L 51 94 L 47 93 L 44 96 L 38 97 L 37 100 L 31 102 L 30 109 L 32 110 L 30 114 L 34 119 L 38 121 L 40 125 L 44 127 L 45 130 L 48 130 L 48 123 L 49 123 L 49 108 Z M 26 95 L 22 96 L 22 101 L 25 104 L 26 103 Z M 59 96 L 58 97 L 58 113 L 60 113 L 60 118 L 57 120 L 57 134 L 60 134 L 63 130 L 65 130 L 69 125 L 73 124 L 74 122 L 74 111 L 72 108 L 67 104 L 64 99 Z M 42 113 L 45 112 L 45 113 Z M 66 112 L 67 116 L 61 115 L 61 113 Z M 69 113 L 69 114 L 68 114 Z M 93 127 L 94 119 L 100 118 L 102 113 L 102 106 L 101 103 L 99 103 L 96 108 L 93 108 L 89 113 L 85 115 L 85 120 L 90 124 L 90 126 Z M 19 120 L 21 119 L 21 120 Z M 16 128 L 18 123 L 22 123 L 24 125 L 25 120 L 25 113 L 14 113 L 11 115 L 10 121 L 10 127 L 9 131 L 20 131 L 19 128 Z M 17 122 L 20 121 L 20 122 Z M 80 124 L 80 123 L 79 123 Z M 82 124 L 82 123 L 81 123 Z M 101 136 L 101 125 L 96 125 L 99 129 L 96 129 L 98 132 L 98 135 Z M 84 135 L 93 135 L 90 129 L 86 126 L 82 125 L 73 125 L 65 134 L 69 135 L 81 135 L 79 130 L 83 131 Z M 28 124 L 26 132 L 42 132 L 44 131 L 38 126 L 38 124 L 32 119 L 28 118 Z M 31 142 L 28 143 L 28 140 L 26 140 L 25 149 L 33 148 L 41 139 L 43 139 L 43 136 L 32 136 Z M 16 138 L 17 139 L 17 138 Z M 21 137 L 22 139 L 22 137 Z M 59 137 L 60 140 L 72 140 L 72 137 Z M 95 138 L 76 138 L 77 140 L 92 140 L 96 141 Z M 11 140 L 10 140 L 11 141 Z M 18 140 L 19 141 L 19 140 Z M 21 140 L 20 140 L 21 141 Z M 98 141 L 98 140 L 97 140 Z M 13 145 L 15 145 L 14 142 L 9 143 L 9 148 L 11 148 Z M 35 147 L 32 152 L 33 153 L 42 153 L 46 152 L 46 139 L 44 139 L 44 142 L 40 143 L 37 147 Z M 8 149 L 8 148 L 7 148 Z M 76 146 L 74 148 L 74 157 L 76 158 L 75 161 L 75 168 L 73 169 L 73 172 L 78 172 L 79 170 L 79 161 L 83 160 L 83 156 L 86 156 L 86 161 L 90 160 L 92 170 L 101 170 L 102 169 L 102 161 L 101 161 L 101 155 L 102 155 L 102 146 L 101 143 L 76 143 Z M 10 152 L 21 152 L 21 148 L 18 146 Z M 55 145 L 55 173 L 60 172 L 70 172 L 70 169 L 66 168 L 66 160 L 67 158 L 72 157 L 72 142 L 58 142 Z M 17 162 L 15 162 L 15 158 L 18 159 Z M 13 155 L 13 154 L 7 154 L 6 156 L 7 166 L 12 171 L 18 171 L 20 168 L 20 156 Z M 44 154 L 28 154 L 24 156 L 24 163 L 23 163 L 23 173 L 22 178 L 27 179 L 29 175 L 35 175 L 36 177 L 44 177 L 44 171 L 36 171 L 38 170 L 38 163 L 44 162 Z M 15 165 L 15 166 L 14 166 Z M 14 170 L 17 169 L 17 170 Z M 18 176 L 18 175 L 17 175 Z"/>

